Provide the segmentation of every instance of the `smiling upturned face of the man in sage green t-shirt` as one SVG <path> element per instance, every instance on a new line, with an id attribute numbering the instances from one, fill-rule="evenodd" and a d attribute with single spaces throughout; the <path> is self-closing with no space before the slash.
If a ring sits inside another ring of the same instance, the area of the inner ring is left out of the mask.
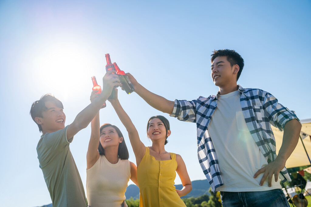
<path id="1" fill-rule="evenodd" d="M 35 121 L 41 125 L 43 133 L 52 133 L 65 128 L 66 115 L 63 108 L 56 106 L 53 101 L 45 101 L 47 110 L 42 111 L 42 117 L 35 117 Z"/>

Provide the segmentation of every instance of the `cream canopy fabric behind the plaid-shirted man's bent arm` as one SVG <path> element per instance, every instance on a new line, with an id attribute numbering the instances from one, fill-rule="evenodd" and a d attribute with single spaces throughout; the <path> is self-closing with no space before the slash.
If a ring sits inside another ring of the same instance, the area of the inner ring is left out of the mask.
<path id="1" fill-rule="evenodd" d="M 300 120 L 302 127 L 300 136 L 303 139 L 304 146 L 308 152 L 308 155 L 311 159 L 311 119 L 304 119 Z M 280 132 L 278 128 L 271 126 L 275 140 L 276 140 L 276 154 L 279 153 L 279 150 L 282 145 L 283 140 L 283 132 Z M 298 144 L 290 155 L 288 160 L 286 161 L 285 167 L 286 168 L 294 168 L 303 165 L 310 165 L 310 161 L 308 156 L 304 150 L 304 146 L 299 138 Z"/>

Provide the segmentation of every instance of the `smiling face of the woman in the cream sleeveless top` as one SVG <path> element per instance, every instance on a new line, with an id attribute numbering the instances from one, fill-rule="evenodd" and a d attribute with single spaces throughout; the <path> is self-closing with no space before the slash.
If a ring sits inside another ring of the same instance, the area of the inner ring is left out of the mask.
<path id="1" fill-rule="evenodd" d="M 119 137 L 118 132 L 112 126 L 105 127 L 100 132 L 100 144 L 104 149 L 111 146 L 118 147 L 122 141 L 123 137 Z"/>

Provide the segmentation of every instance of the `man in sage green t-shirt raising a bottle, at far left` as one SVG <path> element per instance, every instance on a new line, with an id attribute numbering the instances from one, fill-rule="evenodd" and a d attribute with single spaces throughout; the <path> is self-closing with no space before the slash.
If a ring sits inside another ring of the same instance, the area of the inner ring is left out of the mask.
<path id="1" fill-rule="evenodd" d="M 73 136 L 86 128 L 110 96 L 118 75 L 109 71 L 103 78 L 103 91 L 65 127 L 63 104 L 51 94 L 35 101 L 30 115 L 42 132 L 37 145 L 39 167 L 50 192 L 53 207 L 86 207 L 86 197 L 69 144 Z M 92 95 L 97 91 L 93 91 Z M 96 94 L 97 95 L 97 94 Z"/>

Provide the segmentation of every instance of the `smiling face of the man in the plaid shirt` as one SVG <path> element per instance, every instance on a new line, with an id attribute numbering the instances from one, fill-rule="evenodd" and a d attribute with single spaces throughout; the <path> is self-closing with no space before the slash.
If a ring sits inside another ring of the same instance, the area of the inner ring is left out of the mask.
<path id="1" fill-rule="evenodd" d="M 225 87 L 229 84 L 235 84 L 237 82 L 236 68 L 238 65 L 230 65 L 227 60 L 227 56 L 218 56 L 214 59 L 211 65 L 211 78 L 214 84 L 218 87 Z"/>

